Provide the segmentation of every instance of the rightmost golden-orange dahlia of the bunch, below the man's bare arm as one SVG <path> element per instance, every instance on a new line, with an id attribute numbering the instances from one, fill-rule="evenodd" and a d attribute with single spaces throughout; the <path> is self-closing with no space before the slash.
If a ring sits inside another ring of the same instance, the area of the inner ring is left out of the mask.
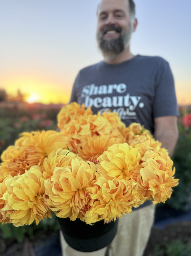
<path id="1" fill-rule="evenodd" d="M 172 187 L 178 185 L 173 162 L 166 152 L 147 151 L 142 158 L 140 174 L 137 176 L 138 192 L 153 203 L 165 202 L 172 194 Z"/>

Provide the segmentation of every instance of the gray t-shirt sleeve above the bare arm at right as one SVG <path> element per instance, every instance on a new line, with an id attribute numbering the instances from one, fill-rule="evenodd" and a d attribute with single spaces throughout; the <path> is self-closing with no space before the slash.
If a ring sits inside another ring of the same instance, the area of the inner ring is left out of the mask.
<path id="1" fill-rule="evenodd" d="M 153 117 L 162 116 L 178 116 L 175 82 L 166 60 L 158 66 L 153 100 Z"/>

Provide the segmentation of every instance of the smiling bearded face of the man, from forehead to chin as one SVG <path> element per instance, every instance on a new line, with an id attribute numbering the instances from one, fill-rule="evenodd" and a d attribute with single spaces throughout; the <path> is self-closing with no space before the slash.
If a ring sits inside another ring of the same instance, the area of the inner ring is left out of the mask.
<path id="1" fill-rule="evenodd" d="M 102 0 L 97 10 L 97 42 L 104 56 L 114 58 L 129 45 L 132 24 L 128 0 Z"/>

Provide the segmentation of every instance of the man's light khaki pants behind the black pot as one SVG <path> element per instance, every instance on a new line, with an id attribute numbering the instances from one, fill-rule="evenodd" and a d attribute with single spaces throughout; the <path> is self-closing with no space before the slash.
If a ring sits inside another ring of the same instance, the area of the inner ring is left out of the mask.
<path id="1" fill-rule="evenodd" d="M 63 256 L 142 256 L 154 221 L 153 205 L 138 208 L 119 219 L 118 232 L 109 246 L 95 252 L 71 248 L 60 232 Z"/>

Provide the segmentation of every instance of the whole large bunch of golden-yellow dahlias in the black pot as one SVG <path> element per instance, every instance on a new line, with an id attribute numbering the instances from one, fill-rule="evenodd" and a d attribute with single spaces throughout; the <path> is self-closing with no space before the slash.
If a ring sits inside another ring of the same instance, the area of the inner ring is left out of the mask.
<path id="1" fill-rule="evenodd" d="M 165 202 L 178 184 L 167 150 L 139 123 L 71 103 L 58 127 L 23 133 L 1 155 L 1 223 L 38 224 L 52 212 L 108 223 L 147 200 Z"/>

